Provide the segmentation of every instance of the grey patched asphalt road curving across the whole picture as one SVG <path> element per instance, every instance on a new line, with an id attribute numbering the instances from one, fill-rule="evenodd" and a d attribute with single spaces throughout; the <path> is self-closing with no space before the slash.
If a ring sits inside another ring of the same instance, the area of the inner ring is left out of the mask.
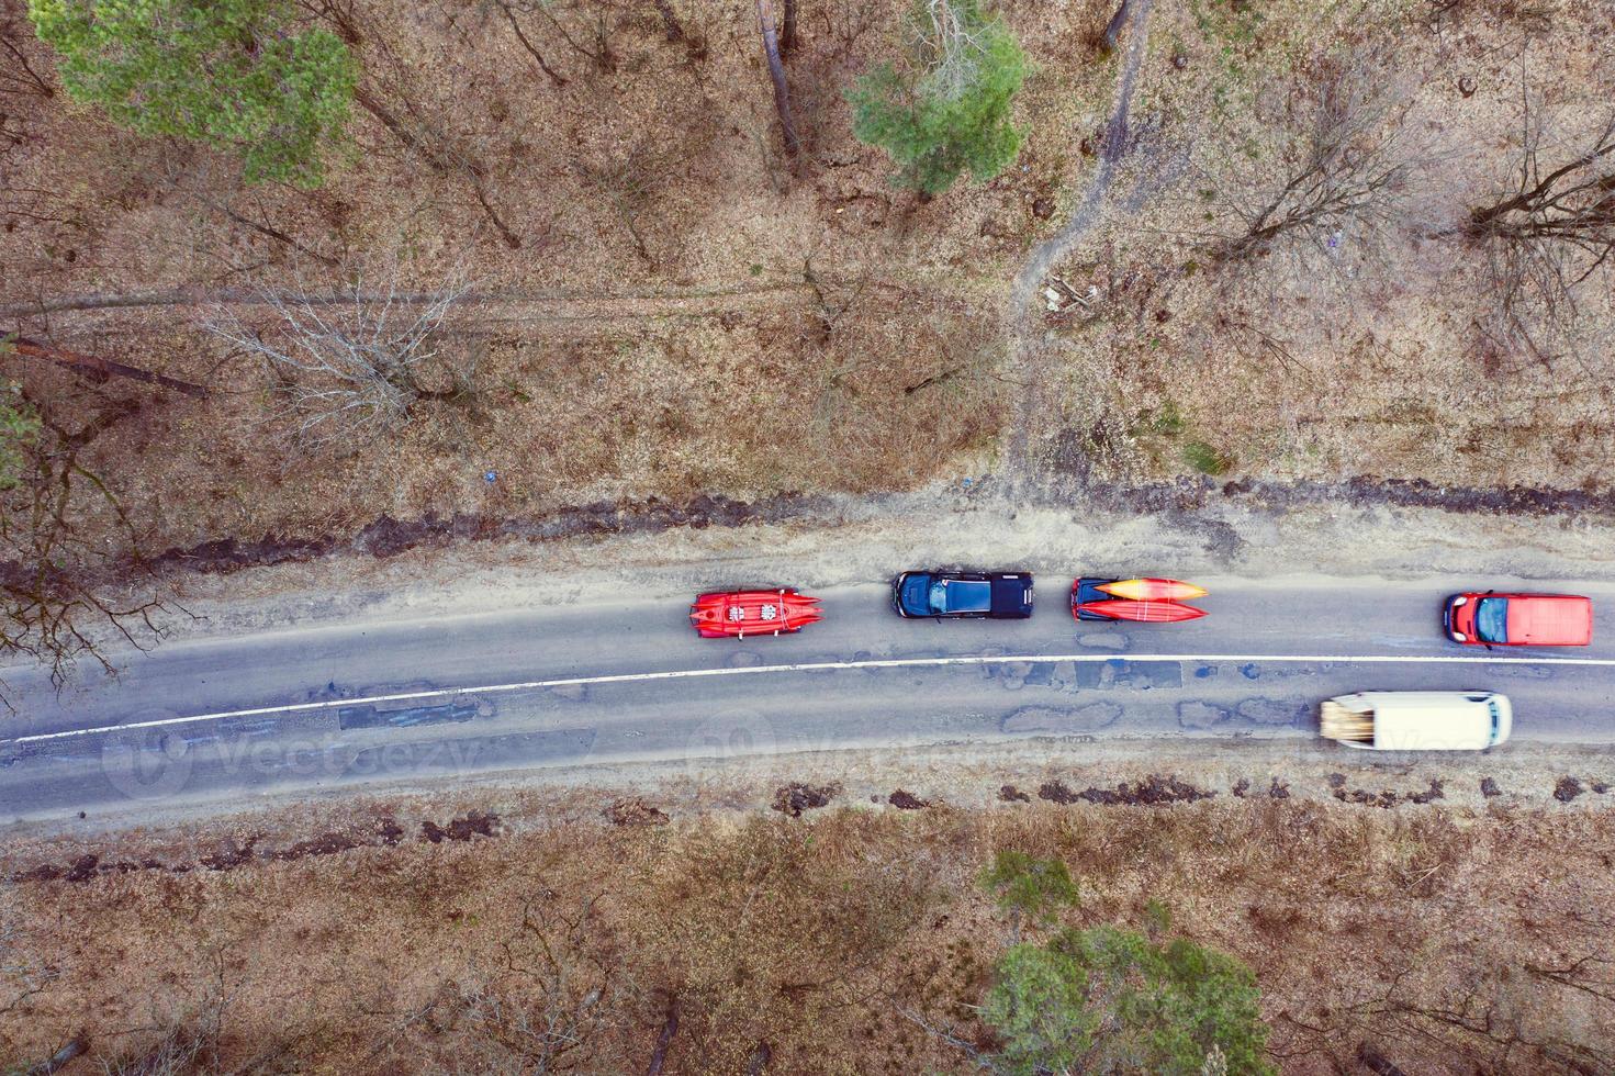
<path id="1" fill-rule="evenodd" d="M 1040 580 L 1032 620 L 995 624 L 900 620 L 869 585 L 820 591 L 825 620 L 801 635 L 738 643 L 696 638 L 675 599 L 174 643 L 60 698 L 13 669 L 0 818 L 856 745 L 1300 745 L 1319 698 L 1363 688 L 1504 690 L 1518 740 L 1615 743 L 1615 628 L 1504 658 L 1441 638 L 1441 599 L 1468 580 L 1198 582 L 1211 616 L 1174 625 L 1079 625 L 1064 578 Z M 1615 586 L 1563 588 L 1615 609 Z"/>

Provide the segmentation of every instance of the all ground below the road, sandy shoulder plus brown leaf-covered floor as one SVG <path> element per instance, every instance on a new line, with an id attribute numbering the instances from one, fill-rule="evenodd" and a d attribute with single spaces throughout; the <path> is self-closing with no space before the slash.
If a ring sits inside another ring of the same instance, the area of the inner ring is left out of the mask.
<path id="1" fill-rule="evenodd" d="M 1080 879 L 1072 924 L 1160 902 L 1248 961 L 1287 1073 L 1365 1071 L 1365 1045 L 1405 1071 L 1604 1066 L 1609 753 L 1344 761 L 1047 742 L 13 830 L 0 1040 L 380 1073 L 531 1065 L 523 1028 L 560 1015 L 583 1068 L 638 1071 L 677 1007 L 665 1071 L 761 1044 L 767 1071 L 964 1071 L 914 1016 L 987 1044 L 969 1007 L 1008 932 L 974 879 L 1017 848 Z"/>

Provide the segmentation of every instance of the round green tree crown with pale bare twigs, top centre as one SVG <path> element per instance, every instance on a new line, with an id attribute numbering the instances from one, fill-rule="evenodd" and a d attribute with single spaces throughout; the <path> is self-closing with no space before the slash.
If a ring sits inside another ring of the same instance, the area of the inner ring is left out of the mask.
<path id="1" fill-rule="evenodd" d="M 1014 160 L 1009 123 L 1027 61 L 1014 34 L 979 0 L 917 0 L 901 65 L 882 65 L 848 94 L 853 134 L 898 163 L 898 186 L 942 194 L 966 168 L 980 183 Z"/>

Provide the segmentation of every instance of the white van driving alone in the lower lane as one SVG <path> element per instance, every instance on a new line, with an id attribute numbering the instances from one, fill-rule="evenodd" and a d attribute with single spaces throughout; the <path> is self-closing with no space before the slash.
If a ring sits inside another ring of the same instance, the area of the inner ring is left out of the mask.
<path id="1" fill-rule="evenodd" d="M 1513 732 L 1497 691 L 1358 691 L 1323 704 L 1321 732 L 1374 751 L 1483 751 Z"/>

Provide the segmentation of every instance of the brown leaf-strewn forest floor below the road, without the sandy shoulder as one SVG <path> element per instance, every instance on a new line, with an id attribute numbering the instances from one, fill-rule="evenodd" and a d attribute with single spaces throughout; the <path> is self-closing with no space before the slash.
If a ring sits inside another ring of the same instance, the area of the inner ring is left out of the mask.
<path id="1" fill-rule="evenodd" d="M 1160 900 L 1250 961 L 1286 1071 L 1350 1071 L 1363 1042 L 1420 1073 L 1612 1063 L 1607 813 L 1276 800 L 651 829 L 560 809 L 470 843 L 24 882 L 0 1042 L 486 1073 L 531 1071 L 562 1028 L 551 1071 L 617 1073 L 644 1068 L 675 1002 L 669 1073 L 741 1071 L 761 1044 L 778 1073 L 964 1071 L 904 1011 L 980 1034 L 967 1007 L 1006 931 L 974 879 L 995 848 L 1064 860 L 1072 923 L 1143 924 Z"/>

